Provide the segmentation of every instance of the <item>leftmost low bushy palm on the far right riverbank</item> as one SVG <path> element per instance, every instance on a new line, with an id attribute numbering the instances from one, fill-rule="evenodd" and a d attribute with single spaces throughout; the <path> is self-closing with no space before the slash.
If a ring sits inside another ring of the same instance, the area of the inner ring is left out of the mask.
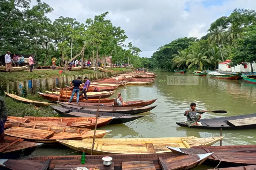
<path id="1" fill-rule="evenodd" d="M 179 69 L 183 66 L 183 68 L 185 69 L 185 66 L 187 65 L 188 54 L 190 53 L 190 51 L 188 49 L 184 49 L 177 52 L 178 54 L 172 55 L 172 57 L 174 57 L 172 59 L 172 68 L 177 67 L 177 69 Z"/>

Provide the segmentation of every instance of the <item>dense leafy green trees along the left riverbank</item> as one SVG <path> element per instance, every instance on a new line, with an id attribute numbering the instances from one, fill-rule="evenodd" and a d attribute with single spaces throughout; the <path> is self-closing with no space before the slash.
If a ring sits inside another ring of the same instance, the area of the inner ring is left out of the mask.
<path id="1" fill-rule="evenodd" d="M 46 14 L 53 11 L 49 5 L 37 0 L 1 0 L 0 3 L 0 53 L 34 54 L 40 65 L 51 65 L 54 56 L 57 65 L 72 59 L 106 60 L 112 56 L 113 63 L 127 63 L 143 67 L 145 59 L 139 57 L 141 50 L 129 43 L 120 26 L 113 26 L 106 19 L 108 12 L 88 18 L 79 23 L 75 18 L 59 17 L 51 21 Z M 104 63 L 103 63 L 104 64 Z"/>

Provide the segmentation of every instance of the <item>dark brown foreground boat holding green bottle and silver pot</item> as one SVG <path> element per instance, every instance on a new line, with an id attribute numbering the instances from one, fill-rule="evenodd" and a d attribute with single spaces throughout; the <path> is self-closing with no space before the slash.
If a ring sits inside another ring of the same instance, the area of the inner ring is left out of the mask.
<path id="1" fill-rule="evenodd" d="M 97 166 L 100 170 L 190 170 L 205 161 L 212 153 L 199 155 L 177 156 L 172 153 L 165 154 L 126 154 L 126 155 L 86 155 L 86 161 L 81 164 L 81 156 L 34 156 L 20 160 L 0 160 L 6 168 L 13 170 L 70 170 L 78 167 Z M 102 158 L 113 158 L 111 165 L 105 167 Z M 31 162 L 30 162 L 31 161 Z M 46 165 L 45 162 L 48 161 Z M 18 169 L 22 167 L 22 169 Z"/>

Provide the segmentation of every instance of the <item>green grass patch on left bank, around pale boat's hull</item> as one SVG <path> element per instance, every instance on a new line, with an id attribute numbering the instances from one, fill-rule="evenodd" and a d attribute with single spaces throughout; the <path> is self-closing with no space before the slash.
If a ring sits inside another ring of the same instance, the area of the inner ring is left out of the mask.
<path id="1" fill-rule="evenodd" d="M 58 114 L 53 113 L 53 109 L 49 106 L 47 107 L 35 107 L 33 104 L 26 104 L 22 102 L 18 102 L 16 100 L 11 99 L 10 97 L 5 97 L 6 107 L 9 112 L 9 116 L 40 116 L 40 117 L 58 117 Z M 27 99 L 40 99 L 37 95 L 30 95 L 26 97 Z M 37 100 L 44 101 L 44 100 Z M 49 101 L 47 101 L 49 102 Z"/>

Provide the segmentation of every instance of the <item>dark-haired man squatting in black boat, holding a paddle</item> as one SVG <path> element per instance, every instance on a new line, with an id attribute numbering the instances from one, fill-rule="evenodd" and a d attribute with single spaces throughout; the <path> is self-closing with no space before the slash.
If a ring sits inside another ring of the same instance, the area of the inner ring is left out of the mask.
<path id="1" fill-rule="evenodd" d="M 187 117 L 186 124 L 189 126 L 194 126 L 194 125 L 200 125 L 197 122 L 201 119 L 202 115 L 201 114 L 196 114 L 200 112 L 189 112 L 189 111 L 200 111 L 199 109 L 196 108 L 195 103 L 190 104 L 190 108 L 184 112 L 184 116 Z M 204 110 L 206 112 L 206 110 Z"/>

